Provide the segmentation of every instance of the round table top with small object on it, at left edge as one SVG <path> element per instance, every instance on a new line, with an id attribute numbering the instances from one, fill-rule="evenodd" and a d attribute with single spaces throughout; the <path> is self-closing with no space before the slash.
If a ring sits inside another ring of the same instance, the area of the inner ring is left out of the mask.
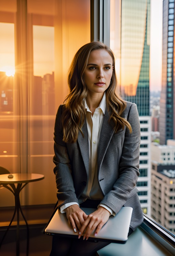
<path id="1" fill-rule="evenodd" d="M 44 175 L 36 173 L 12 173 L 13 178 L 8 178 L 9 174 L 0 175 L 0 183 L 12 184 L 12 183 L 29 183 L 38 180 L 43 180 Z"/>

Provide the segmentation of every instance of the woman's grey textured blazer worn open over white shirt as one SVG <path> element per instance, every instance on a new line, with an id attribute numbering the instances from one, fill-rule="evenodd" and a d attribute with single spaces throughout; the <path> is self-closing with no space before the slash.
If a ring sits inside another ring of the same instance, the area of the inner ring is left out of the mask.
<path id="1" fill-rule="evenodd" d="M 56 176 L 58 207 L 70 202 L 77 202 L 87 184 L 89 172 L 89 144 L 86 120 L 75 143 L 63 142 L 60 124 L 62 114 L 60 105 L 56 114 L 54 129 L 53 162 Z M 98 183 L 104 195 L 102 204 L 108 206 L 115 214 L 122 206 L 133 208 L 131 228 L 136 229 L 143 222 L 143 212 L 138 199 L 136 187 L 139 175 L 140 122 L 135 103 L 127 102 L 122 113 L 131 127 L 132 133 L 125 127 L 117 133 L 113 130 L 113 121 L 109 122 L 106 109 L 99 145 Z"/>

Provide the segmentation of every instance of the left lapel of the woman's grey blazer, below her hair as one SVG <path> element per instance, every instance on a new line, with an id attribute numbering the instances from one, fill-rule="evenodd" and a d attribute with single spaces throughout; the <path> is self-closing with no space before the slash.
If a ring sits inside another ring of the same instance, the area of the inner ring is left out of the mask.
<path id="1" fill-rule="evenodd" d="M 88 174 L 88 172 L 89 172 L 89 141 L 88 141 L 86 119 L 84 120 L 84 125 L 82 126 L 81 130 L 84 134 L 84 137 L 82 136 L 81 132 L 79 131 L 77 141 L 78 141 L 78 144 L 80 147 L 80 152 L 81 152 L 81 155 L 83 158 L 84 166 L 85 166 L 86 172 Z"/>

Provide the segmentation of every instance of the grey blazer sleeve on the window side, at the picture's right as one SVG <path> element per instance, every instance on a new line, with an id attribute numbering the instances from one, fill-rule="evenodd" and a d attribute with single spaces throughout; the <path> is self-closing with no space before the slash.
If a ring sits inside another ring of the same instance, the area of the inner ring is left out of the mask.
<path id="1" fill-rule="evenodd" d="M 126 128 L 118 168 L 119 178 L 101 202 L 115 214 L 133 194 L 137 193 L 136 182 L 139 176 L 140 121 L 135 103 L 130 105 L 126 118 L 132 127 L 132 133 Z"/>

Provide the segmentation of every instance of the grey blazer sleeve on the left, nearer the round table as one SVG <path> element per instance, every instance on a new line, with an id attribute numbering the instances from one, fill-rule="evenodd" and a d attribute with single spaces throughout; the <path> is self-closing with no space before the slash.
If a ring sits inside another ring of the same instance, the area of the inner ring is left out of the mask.
<path id="1" fill-rule="evenodd" d="M 58 207 L 66 203 L 77 202 L 73 179 L 71 175 L 71 163 L 67 151 L 66 143 L 63 141 L 63 131 L 61 128 L 62 107 L 60 105 L 56 114 L 54 127 L 54 174 L 56 178 Z"/>

